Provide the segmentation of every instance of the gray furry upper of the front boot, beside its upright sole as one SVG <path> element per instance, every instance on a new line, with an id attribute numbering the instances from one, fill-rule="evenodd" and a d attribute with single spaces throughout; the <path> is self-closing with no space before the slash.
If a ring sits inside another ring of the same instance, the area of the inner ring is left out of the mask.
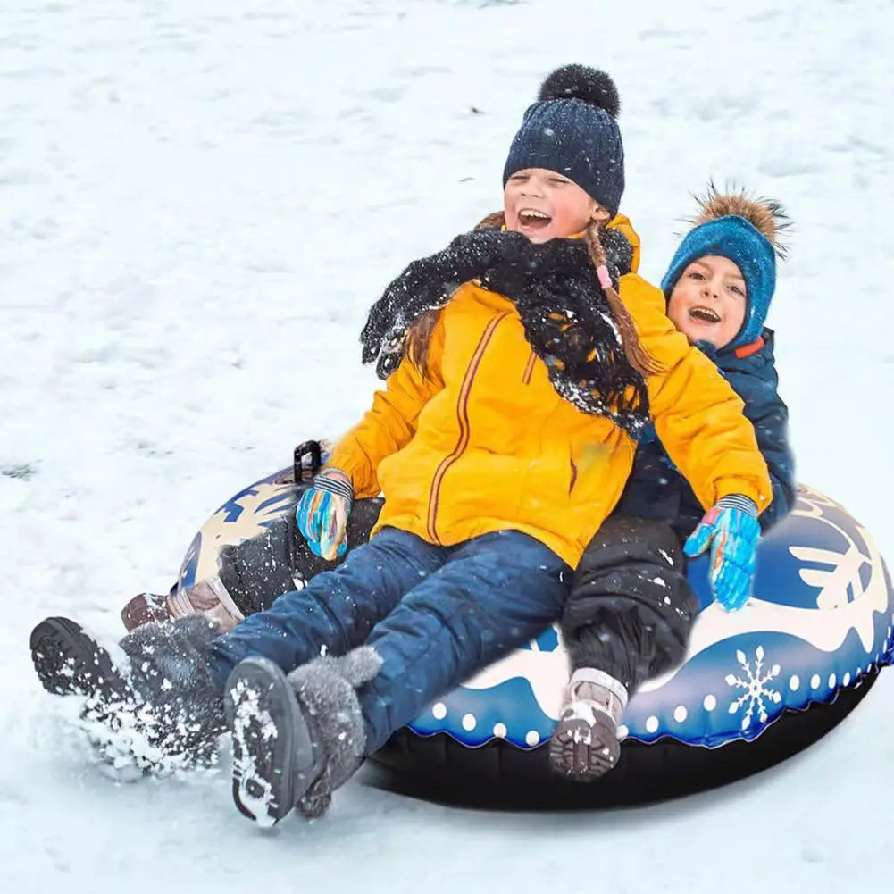
<path id="1" fill-rule="evenodd" d="M 289 682 L 316 722 L 325 755 L 323 772 L 296 807 L 300 814 L 325 814 L 332 793 L 357 772 L 367 746 L 357 687 L 373 679 L 382 659 L 371 645 L 361 645 L 340 658 L 316 658 L 289 674 Z"/>

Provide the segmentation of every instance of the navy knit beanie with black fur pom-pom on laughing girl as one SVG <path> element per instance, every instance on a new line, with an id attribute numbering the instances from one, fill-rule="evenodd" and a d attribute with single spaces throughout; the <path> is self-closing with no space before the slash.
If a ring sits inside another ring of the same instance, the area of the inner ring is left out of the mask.
<path id="1" fill-rule="evenodd" d="M 565 65 L 544 80 L 525 113 L 503 168 L 503 186 L 526 168 L 561 173 L 612 216 L 624 193 L 618 89 L 605 73 Z"/>

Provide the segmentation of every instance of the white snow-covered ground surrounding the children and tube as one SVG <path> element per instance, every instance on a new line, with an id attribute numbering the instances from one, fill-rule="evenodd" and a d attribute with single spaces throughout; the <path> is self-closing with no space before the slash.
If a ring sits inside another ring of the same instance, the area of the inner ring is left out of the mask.
<path id="1" fill-rule="evenodd" d="M 20 0 L 0 7 L 0 888 L 875 890 L 894 847 L 894 672 L 727 789 L 486 814 L 359 785 L 261 834 L 227 777 L 116 784 L 30 668 L 47 613 L 114 638 L 190 539 L 375 387 L 368 305 L 500 206 L 545 73 L 620 88 L 623 208 L 657 280 L 689 190 L 797 224 L 771 325 L 801 480 L 894 560 L 888 0 Z"/>

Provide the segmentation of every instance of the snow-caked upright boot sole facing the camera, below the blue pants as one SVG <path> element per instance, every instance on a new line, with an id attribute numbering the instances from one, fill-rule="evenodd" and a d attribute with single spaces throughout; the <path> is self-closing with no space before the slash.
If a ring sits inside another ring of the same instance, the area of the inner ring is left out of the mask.
<path id="1" fill-rule="evenodd" d="M 232 799 L 240 814 L 273 826 L 316 779 L 307 721 L 289 680 L 266 658 L 247 658 L 224 690 L 232 731 Z"/>

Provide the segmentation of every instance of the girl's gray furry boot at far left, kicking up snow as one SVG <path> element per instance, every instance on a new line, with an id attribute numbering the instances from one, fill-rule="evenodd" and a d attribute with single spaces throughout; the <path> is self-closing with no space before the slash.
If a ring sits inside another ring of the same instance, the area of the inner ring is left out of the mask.
<path id="1" fill-rule="evenodd" d="M 80 719 L 106 763 L 142 772 L 209 760 L 223 732 L 223 696 L 206 654 L 217 629 L 204 618 L 149 624 L 121 642 L 128 665 L 78 624 L 42 621 L 31 654 L 48 692 L 86 696 Z"/>

